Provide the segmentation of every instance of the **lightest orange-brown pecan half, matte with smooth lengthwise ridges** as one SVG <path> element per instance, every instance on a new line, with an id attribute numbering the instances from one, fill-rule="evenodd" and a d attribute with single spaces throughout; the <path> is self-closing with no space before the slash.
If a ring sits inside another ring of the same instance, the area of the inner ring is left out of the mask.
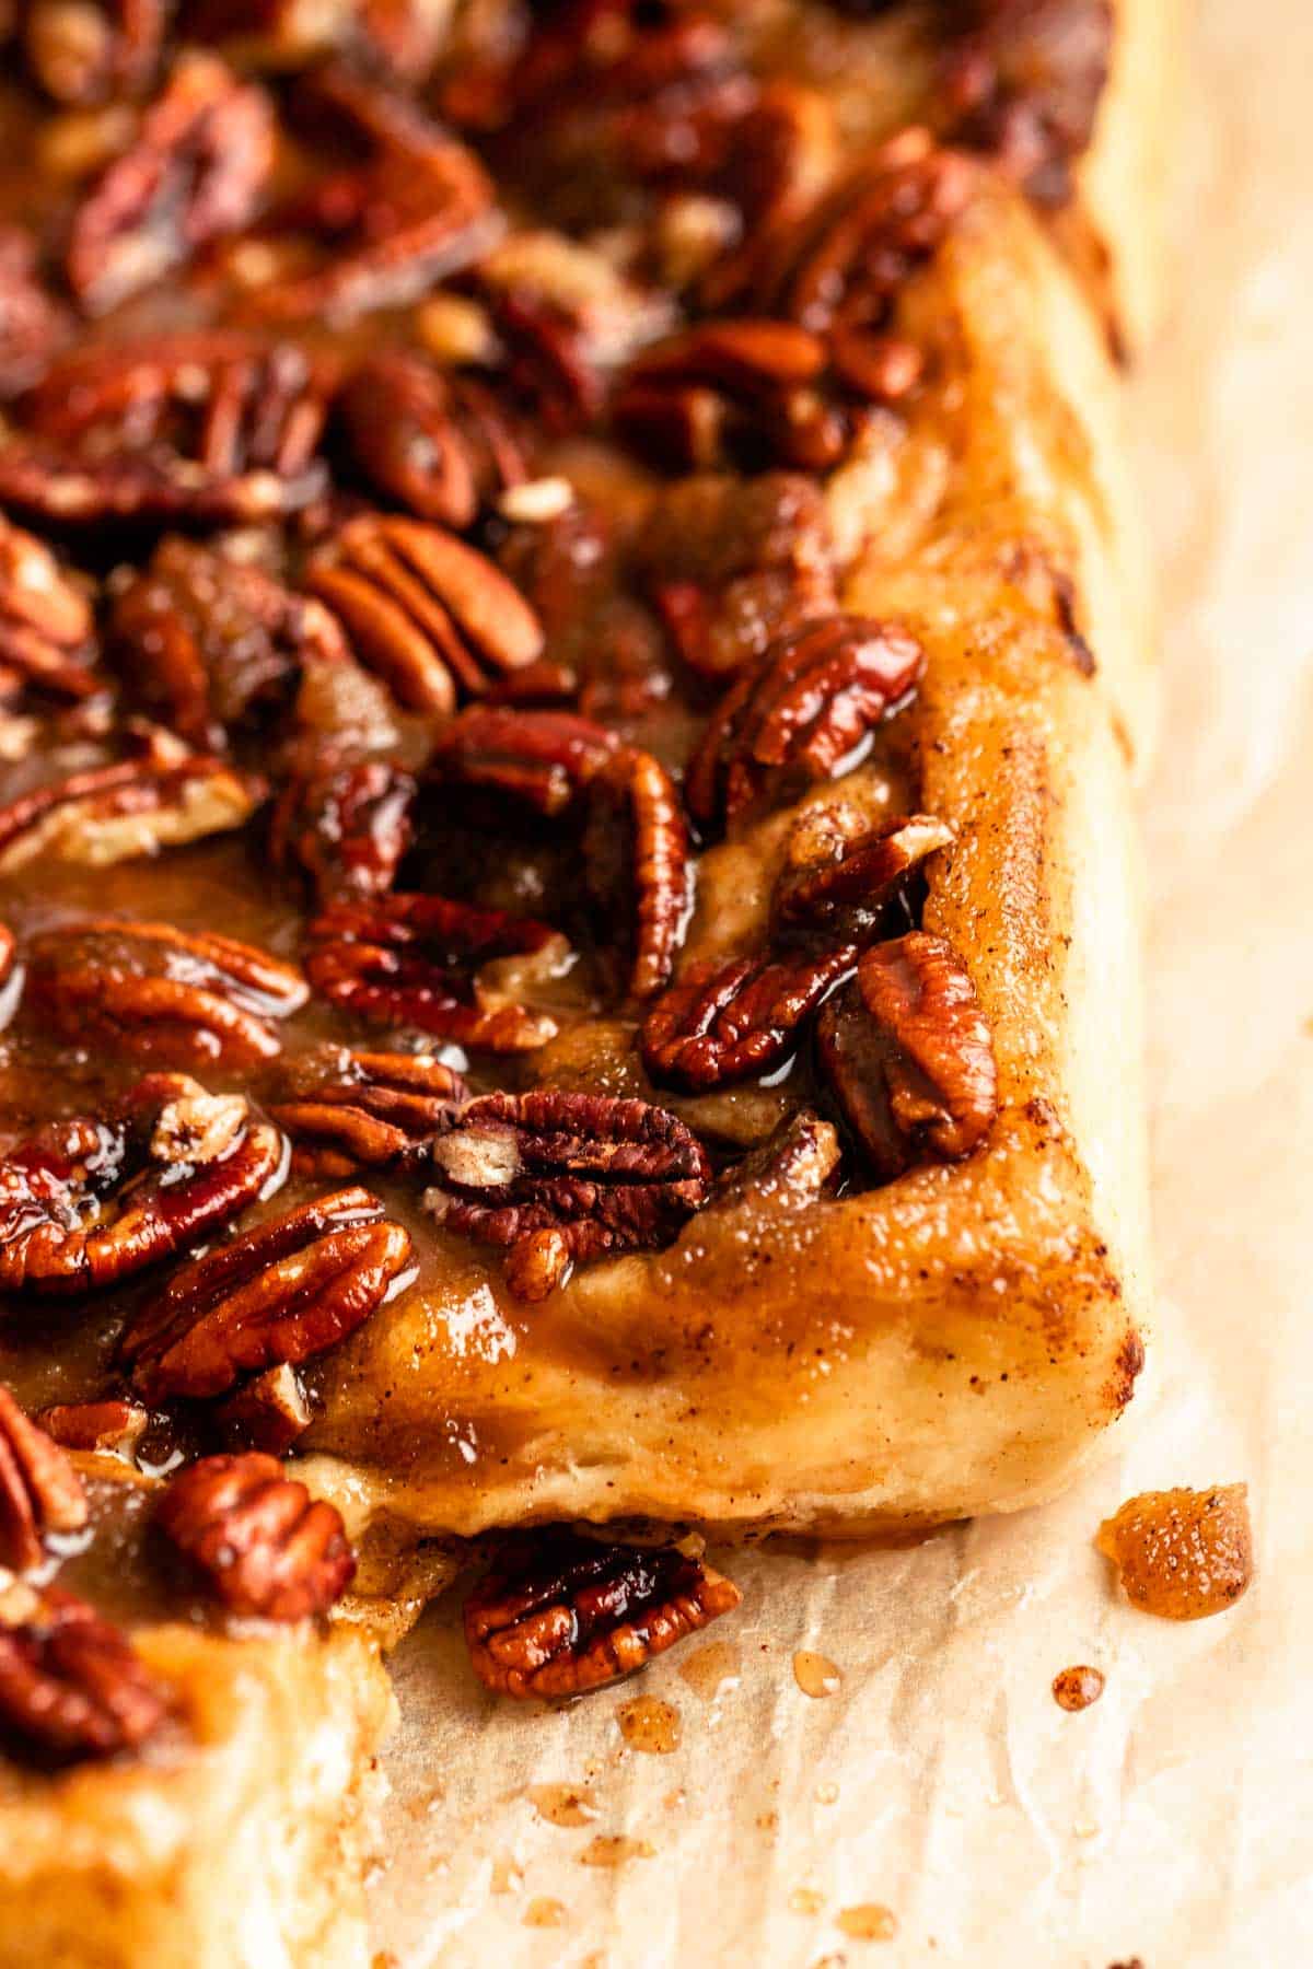
<path id="1" fill-rule="evenodd" d="M 537 616 L 494 563 L 417 520 L 350 520 L 307 573 L 346 624 L 356 654 L 398 703 L 449 713 L 457 695 L 541 656 Z"/>

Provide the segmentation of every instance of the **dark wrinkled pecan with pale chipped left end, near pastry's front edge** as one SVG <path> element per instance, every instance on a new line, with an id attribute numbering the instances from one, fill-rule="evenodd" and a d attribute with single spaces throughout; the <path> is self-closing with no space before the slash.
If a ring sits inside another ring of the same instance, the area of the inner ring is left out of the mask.
<path id="1" fill-rule="evenodd" d="M 433 1142 L 425 1207 L 510 1250 L 516 1298 L 545 1300 L 573 1264 L 652 1250 L 707 1201 L 707 1154 L 685 1124 L 610 1095 L 482 1095 Z"/>

